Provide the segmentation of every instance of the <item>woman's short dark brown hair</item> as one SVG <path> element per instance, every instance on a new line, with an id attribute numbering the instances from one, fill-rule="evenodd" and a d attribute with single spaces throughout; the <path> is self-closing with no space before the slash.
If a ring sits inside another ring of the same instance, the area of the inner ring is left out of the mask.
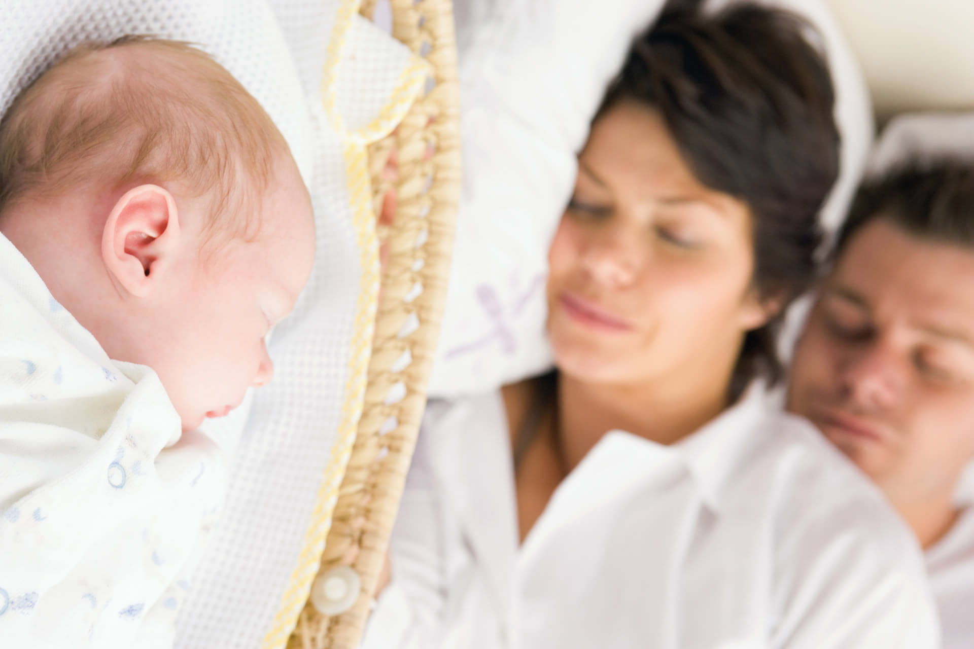
<path id="1" fill-rule="evenodd" d="M 747 204 L 753 285 L 787 306 L 815 278 L 818 213 L 839 173 L 829 70 L 801 18 L 756 5 L 706 15 L 688 4 L 636 39 L 595 120 L 623 101 L 656 110 L 696 179 Z M 760 373 L 780 378 L 782 314 L 745 336 L 731 399 Z"/>

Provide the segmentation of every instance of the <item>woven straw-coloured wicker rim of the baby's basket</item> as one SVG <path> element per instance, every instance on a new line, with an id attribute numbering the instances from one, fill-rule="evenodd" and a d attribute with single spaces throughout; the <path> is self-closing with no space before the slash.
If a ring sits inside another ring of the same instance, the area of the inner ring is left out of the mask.
<path id="1" fill-rule="evenodd" d="M 364 0 L 371 18 L 376 0 Z M 369 151 L 378 206 L 392 190 L 392 225 L 368 384 L 319 574 L 350 566 L 361 593 L 346 612 L 326 616 L 307 602 L 287 646 L 352 649 L 373 602 L 406 471 L 426 404 L 432 352 L 446 297 L 453 223 L 460 197 L 460 109 L 450 0 L 391 0 L 393 36 L 431 64 L 424 96 L 392 135 Z M 383 171 L 394 152 L 398 174 Z"/>

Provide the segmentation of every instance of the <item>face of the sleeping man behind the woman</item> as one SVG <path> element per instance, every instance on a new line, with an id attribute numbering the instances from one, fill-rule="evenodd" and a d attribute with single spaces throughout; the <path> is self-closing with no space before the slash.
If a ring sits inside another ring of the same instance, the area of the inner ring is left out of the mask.
<path id="1" fill-rule="evenodd" d="M 788 409 L 893 500 L 953 494 L 974 457 L 974 249 L 881 216 L 854 234 L 798 343 Z"/>

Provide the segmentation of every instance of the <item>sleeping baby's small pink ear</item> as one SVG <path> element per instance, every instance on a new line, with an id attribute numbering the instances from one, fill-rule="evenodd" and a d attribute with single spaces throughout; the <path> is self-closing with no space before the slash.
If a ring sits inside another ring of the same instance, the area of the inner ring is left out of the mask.
<path id="1" fill-rule="evenodd" d="M 145 297 L 172 266 L 180 234 L 172 195 L 158 185 L 139 185 L 112 207 L 101 236 L 101 258 L 123 290 Z"/>

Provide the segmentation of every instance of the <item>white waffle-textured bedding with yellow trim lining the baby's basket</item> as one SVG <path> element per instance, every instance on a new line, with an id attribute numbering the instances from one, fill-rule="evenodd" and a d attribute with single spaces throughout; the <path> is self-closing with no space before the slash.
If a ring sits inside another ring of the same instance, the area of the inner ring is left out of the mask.
<path id="1" fill-rule="evenodd" d="M 426 78 L 405 46 L 356 9 L 353 0 L 3 5 L 0 111 L 80 41 L 131 33 L 192 41 L 260 101 L 311 192 L 318 254 L 269 343 L 275 378 L 249 397 L 249 416 L 242 408 L 205 427 L 231 460 L 231 477 L 197 575 L 173 600 L 179 647 L 284 646 L 317 573 L 354 441 L 378 246 L 370 197 L 350 187 L 367 186 L 364 145 L 393 128 Z M 322 89 L 322 78 L 333 83 Z"/>

